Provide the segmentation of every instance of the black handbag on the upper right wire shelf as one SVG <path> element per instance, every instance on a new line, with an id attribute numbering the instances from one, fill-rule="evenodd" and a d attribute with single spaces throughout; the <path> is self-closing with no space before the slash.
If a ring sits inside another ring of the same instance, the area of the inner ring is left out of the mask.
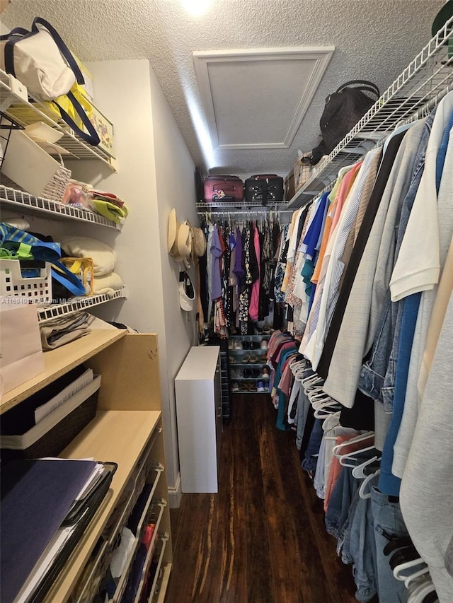
<path id="1" fill-rule="evenodd" d="M 370 93 L 372 96 L 369 96 Z M 323 115 L 319 120 L 323 141 L 314 148 L 312 164 L 318 163 L 322 155 L 331 153 L 337 144 L 357 124 L 379 98 L 379 88 L 366 80 L 352 80 L 328 95 Z M 315 160 L 317 159 L 317 160 Z"/>

